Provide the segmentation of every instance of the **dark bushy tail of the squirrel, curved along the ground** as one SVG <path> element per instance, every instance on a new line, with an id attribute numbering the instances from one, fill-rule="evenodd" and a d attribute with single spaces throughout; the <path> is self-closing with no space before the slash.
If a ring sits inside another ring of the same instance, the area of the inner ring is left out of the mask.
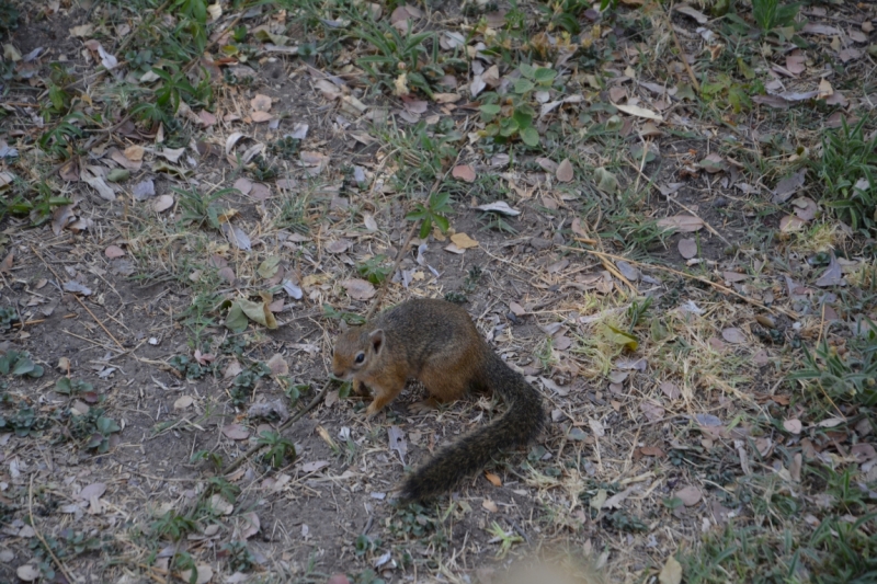
<path id="1" fill-rule="evenodd" d="M 490 425 L 471 432 L 414 471 L 402 484 L 403 501 L 422 501 L 449 491 L 481 470 L 502 448 L 513 448 L 534 438 L 544 423 L 542 398 L 524 377 L 491 353 L 483 377 L 502 396 L 506 412 Z"/>

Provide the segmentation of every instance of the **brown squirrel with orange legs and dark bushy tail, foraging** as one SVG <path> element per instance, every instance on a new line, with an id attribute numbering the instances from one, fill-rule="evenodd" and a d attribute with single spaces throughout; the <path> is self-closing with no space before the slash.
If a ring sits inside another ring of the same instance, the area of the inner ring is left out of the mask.
<path id="1" fill-rule="evenodd" d="M 468 312 L 446 300 L 413 299 L 385 310 L 339 335 L 332 350 L 335 377 L 352 380 L 353 390 L 369 387 L 373 416 L 392 401 L 409 378 L 422 382 L 429 399 L 410 406 L 421 413 L 457 400 L 468 389 L 502 397 L 508 411 L 442 448 L 402 483 L 402 501 L 423 501 L 456 486 L 480 470 L 502 448 L 526 444 L 543 427 L 538 392 L 488 345 Z"/>

